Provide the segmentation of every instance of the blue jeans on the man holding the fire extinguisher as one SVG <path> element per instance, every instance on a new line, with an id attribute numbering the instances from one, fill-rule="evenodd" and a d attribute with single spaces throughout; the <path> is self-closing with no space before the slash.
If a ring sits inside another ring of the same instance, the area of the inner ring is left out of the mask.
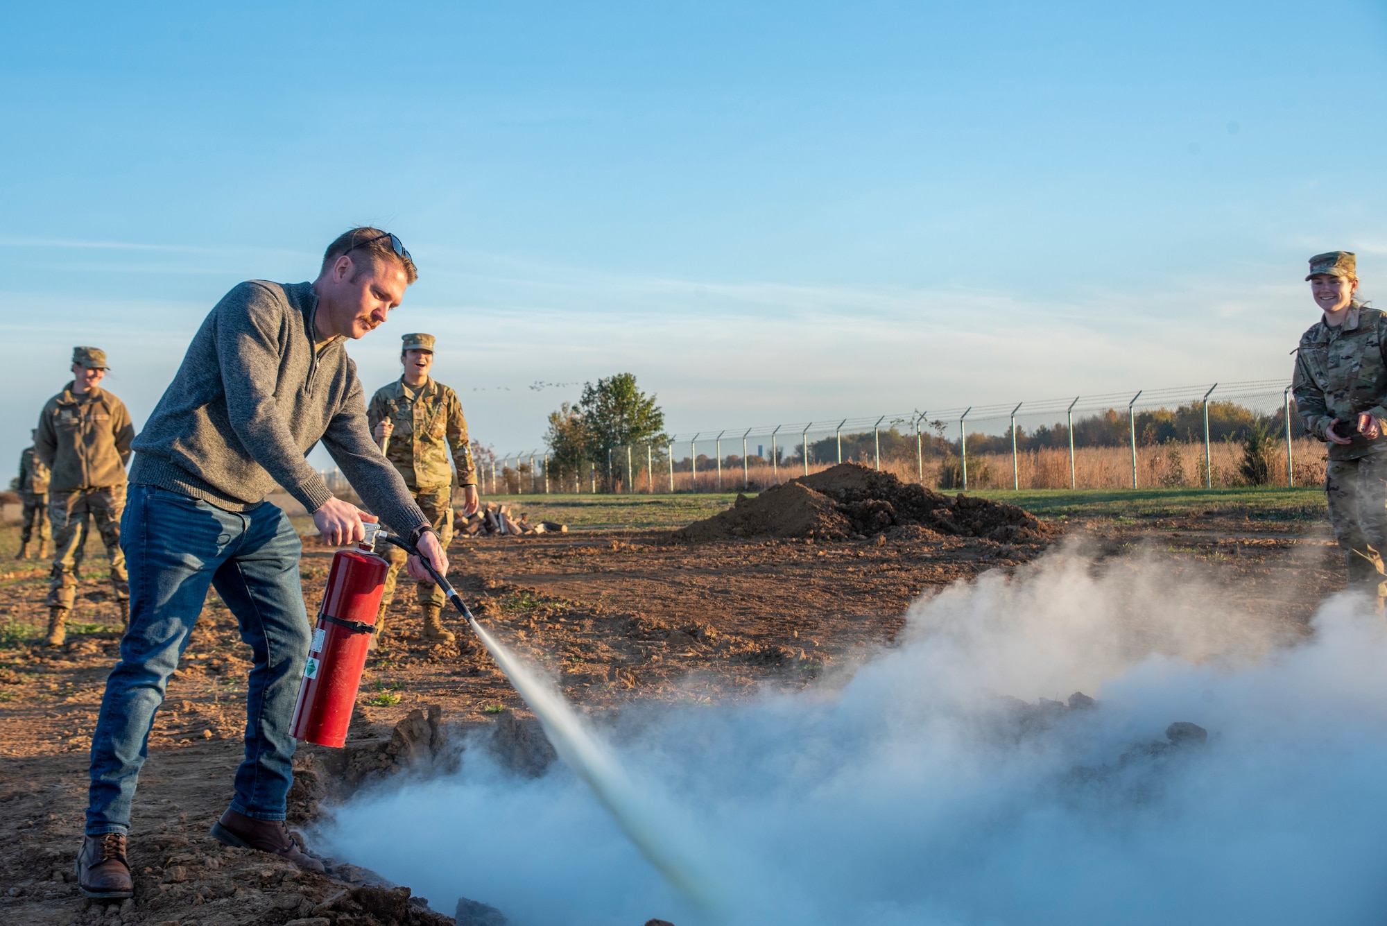
<path id="1" fill-rule="evenodd" d="M 154 711 L 203 611 L 207 588 L 240 621 L 254 665 L 245 693 L 245 760 L 236 769 L 232 810 L 284 819 L 294 780 L 288 735 L 309 627 L 298 582 L 301 545 L 288 517 L 269 502 L 226 512 L 151 485 L 132 485 L 121 518 L 130 573 L 130 629 L 105 681 L 92 736 L 86 833 L 125 833 Z"/>

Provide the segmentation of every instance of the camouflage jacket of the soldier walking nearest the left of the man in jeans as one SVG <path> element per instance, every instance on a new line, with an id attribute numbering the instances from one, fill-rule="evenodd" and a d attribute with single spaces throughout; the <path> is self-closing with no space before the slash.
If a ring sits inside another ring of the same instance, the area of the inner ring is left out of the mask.
<path id="1" fill-rule="evenodd" d="M 125 485 L 135 424 L 125 402 L 105 390 L 72 395 L 72 384 L 39 414 L 33 452 L 51 470 L 50 492 Z"/>

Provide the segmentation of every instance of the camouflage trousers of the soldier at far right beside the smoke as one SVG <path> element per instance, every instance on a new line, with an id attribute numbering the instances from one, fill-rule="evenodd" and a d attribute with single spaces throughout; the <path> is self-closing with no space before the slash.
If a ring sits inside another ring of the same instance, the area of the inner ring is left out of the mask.
<path id="1" fill-rule="evenodd" d="M 1348 559 L 1348 582 L 1377 585 L 1387 552 L 1387 453 L 1329 460 L 1325 471 L 1329 523 Z"/>

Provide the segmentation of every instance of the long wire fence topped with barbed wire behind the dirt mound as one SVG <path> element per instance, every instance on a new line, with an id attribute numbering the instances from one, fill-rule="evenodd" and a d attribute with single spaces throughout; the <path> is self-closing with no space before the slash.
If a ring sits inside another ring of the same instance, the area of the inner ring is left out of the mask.
<path id="1" fill-rule="evenodd" d="M 1143 481 L 1214 488 L 1244 478 L 1239 448 L 1254 426 L 1264 444 L 1266 434 L 1280 444 L 1277 455 L 1259 451 L 1266 455 L 1266 480 L 1295 485 L 1323 478 L 1323 453 L 1294 414 L 1287 380 L 681 431 L 660 442 L 608 448 L 562 471 L 551 469 L 546 448 L 537 446 L 498 453 L 479 478 L 487 495 L 752 491 L 857 462 L 961 491 L 1107 488 L 1122 481 L 1133 488 Z"/>

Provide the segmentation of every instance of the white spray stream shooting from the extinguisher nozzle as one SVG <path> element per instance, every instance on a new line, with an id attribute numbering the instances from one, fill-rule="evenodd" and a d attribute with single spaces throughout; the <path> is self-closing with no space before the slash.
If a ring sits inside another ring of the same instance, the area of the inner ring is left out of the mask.
<path id="1" fill-rule="evenodd" d="M 649 792 L 635 787 L 616 755 L 592 736 L 558 692 L 487 634 L 476 618 L 469 618 L 469 624 L 491 658 L 510 679 L 510 685 L 540 718 L 559 758 L 587 782 L 621 832 L 673 887 L 699 907 L 712 909 L 714 891 L 710 873 L 706 865 L 688 855 L 687 846 L 677 846 L 670 839 L 677 825 L 670 819 L 667 808 L 657 808 Z"/>

